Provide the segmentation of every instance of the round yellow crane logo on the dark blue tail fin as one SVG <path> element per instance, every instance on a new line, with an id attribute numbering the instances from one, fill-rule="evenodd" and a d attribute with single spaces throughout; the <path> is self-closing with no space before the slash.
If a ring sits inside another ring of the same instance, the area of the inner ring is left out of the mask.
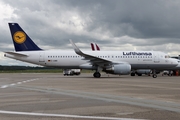
<path id="1" fill-rule="evenodd" d="M 21 44 L 26 40 L 26 34 L 22 31 L 17 31 L 16 33 L 14 33 L 13 38 L 16 43 Z"/>

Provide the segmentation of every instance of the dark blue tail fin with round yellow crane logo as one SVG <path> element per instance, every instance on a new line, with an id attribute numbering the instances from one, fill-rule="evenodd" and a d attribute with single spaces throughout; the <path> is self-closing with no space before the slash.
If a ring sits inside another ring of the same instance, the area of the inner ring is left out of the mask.
<path id="1" fill-rule="evenodd" d="M 9 23 L 16 51 L 33 51 L 40 49 L 17 23 Z"/>

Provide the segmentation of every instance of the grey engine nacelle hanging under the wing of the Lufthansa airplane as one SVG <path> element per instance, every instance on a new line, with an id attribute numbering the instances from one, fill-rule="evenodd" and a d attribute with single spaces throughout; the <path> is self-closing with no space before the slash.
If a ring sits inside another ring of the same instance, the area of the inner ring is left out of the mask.
<path id="1" fill-rule="evenodd" d="M 131 65 L 127 63 L 114 64 L 103 71 L 111 74 L 128 75 L 131 72 Z"/>

